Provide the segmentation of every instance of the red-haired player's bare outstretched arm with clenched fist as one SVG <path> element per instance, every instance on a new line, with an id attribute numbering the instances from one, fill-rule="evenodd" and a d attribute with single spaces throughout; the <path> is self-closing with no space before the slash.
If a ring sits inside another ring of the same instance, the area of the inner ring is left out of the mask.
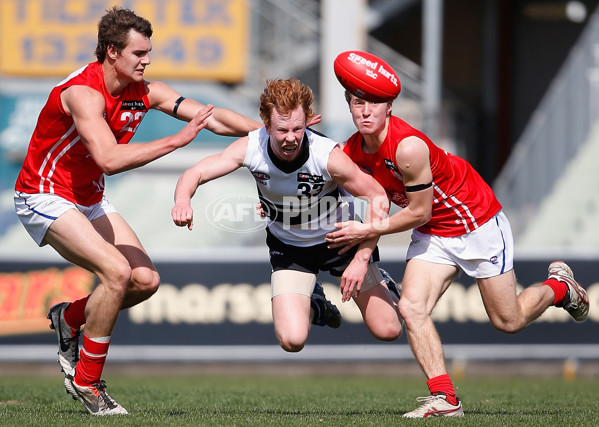
<path id="1" fill-rule="evenodd" d="M 179 177 L 175 188 L 175 206 L 171 210 L 173 222 L 189 230 L 193 228 L 191 198 L 197 188 L 213 179 L 228 175 L 243 166 L 248 138 L 243 137 L 229 145 L 222 153 L 208 156 Z"/>

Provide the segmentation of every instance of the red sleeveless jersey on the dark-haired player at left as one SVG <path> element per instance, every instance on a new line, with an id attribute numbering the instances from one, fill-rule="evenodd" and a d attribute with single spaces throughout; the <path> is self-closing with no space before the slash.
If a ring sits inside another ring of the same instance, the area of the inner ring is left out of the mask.
<path id="1" fill-rule="evenodd" d="M 81 142 L 73 118 L 60 100 L 70 86 L 89 86 L 104 96 L 104 118 L 119 144 L 128 143 L 149 109 L 145 83 L 132 83 L 119 95 L 106 89 L 102 65 L 88 64 L 71 73 L 50 92 L 29 142 L 27 157 L 15 189 L 25 193 L 51 193 L 80 205 L 102 200 L 104 174 Z"/>

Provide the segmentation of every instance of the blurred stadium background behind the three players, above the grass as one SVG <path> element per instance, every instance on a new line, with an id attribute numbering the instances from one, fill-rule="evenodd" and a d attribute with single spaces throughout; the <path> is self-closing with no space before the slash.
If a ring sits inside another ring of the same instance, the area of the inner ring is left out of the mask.
<path id="1" fill-rule="evenodd" d="M 12 187 L 50 88 L 93 60 L 95 25 L 113 1 L 0 1 L 0 360 L 48 362 L 55 338 L 45 313 L 85 295 L 94 279 L 37 248 L 13 212 Z M 186 96 L 258 118 L 264 81 L 298 77 L 316 96 L 318 128 L 352 132 L 332 73 L 337 53 L 368 50 L 398 72 L 394 113 L 467 158 L 493 184 L 512 221 L 523 287 L 553 258 L 572 264 L 589 290 L 589 319 L 575 325 L 549 310 L 520 334 L 490 326 L 473 281 L 460 277 L 435 320 L 450 360 L 599 361 L 599 151 L 596 1 L 519 0 L 129 0 L 154 27 L 147 78 Z M 281 54 L 283 52 L 283 54 Z M 149 113 L 135 140 L 176 132 Z M 380 344 L 355 307 L 341 304 L 339 330 L 314 328 L 299 355 L 278 348 L 269 304 L 264 226 L 244 171 L 206 185 L 194 199 L 193 232 L 170 221 L 178 175 L 229 140 L 200 133 L 179 152 L 107 179 L 107 197 L 132 224 L 161 273 L 161 290 L 123 312 L 110 360 L 264 362 L 412 360 L 405 337 Z M 406 235 L 382 239 L 382 265 L 398 280 Z M 594 371 L 593 371 L 594 370 Z M 597 375 L 597 370 L 591 370 Z"/>

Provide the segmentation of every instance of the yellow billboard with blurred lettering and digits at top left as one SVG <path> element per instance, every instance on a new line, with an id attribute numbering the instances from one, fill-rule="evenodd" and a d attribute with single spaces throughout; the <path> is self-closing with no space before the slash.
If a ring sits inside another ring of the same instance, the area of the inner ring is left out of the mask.
<path id="1" fill-rule="evenodd" d="M 0 0 L 0 72 L 66 76 L 95 61 L 98 20 L 116 4 L 152 23 L 148 78 L 243 80 L 247 0 Z"/>

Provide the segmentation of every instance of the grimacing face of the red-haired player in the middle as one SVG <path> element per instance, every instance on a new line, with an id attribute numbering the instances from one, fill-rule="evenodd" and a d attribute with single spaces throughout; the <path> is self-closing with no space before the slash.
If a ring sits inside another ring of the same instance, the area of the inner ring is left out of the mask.
<path id="1" fill-rule="evenodd" d="M 275 108 L 270 116 L 270 127 L 266 128 L 272 151 L 279 159 L 288 162 L 299 155 L 305 131 L 306 115 L 302 107 L 288 115 L 280 114 Z"/>

